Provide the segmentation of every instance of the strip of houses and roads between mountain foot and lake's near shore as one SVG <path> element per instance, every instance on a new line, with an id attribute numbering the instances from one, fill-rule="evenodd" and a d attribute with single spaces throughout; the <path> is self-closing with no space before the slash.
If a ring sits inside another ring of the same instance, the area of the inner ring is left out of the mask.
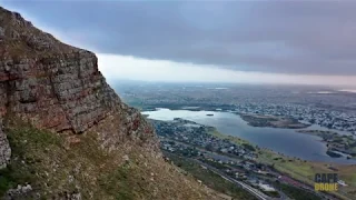
<path id="1" fill-rule="evenodd" d="M 160 148 L 166 159 L 180 157 L 194 161 L 202 169 L 211 170 L 224 179 L 235 181 L 258 199 L 287 199 L 280 184 L 297 189 L 303 188 L 304 196 L 310 199 L 323 199 L 324 193 L 314 193 L 313 188 L 305 186 L 273 167 L 256 161 L 257 147 L 249 143 L 236 143 L 214 134 L 212 127 L 175 118 L 172 121 L 149 119 L 160 139 Z M 300 192 L 300 191 L 299 191 Z"/>

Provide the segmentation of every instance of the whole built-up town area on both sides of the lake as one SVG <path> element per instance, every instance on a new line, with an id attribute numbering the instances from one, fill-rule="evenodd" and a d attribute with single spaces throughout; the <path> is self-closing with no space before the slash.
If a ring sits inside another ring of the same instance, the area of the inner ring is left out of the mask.
<path id="1" fill-rule="evenodd" d="M 219 118 L 215 113 L 235 113 L 251 127 L 269 129 L 300 129 L 300 134 L 315 134 L 325 143 L 325 153 L 330 158 L 343 156 L 354 159 L 355 101 L 356 94 L 330 88 L 307 86 L 247 86 L 247 84 L 198 84 L 198 83 L 147 83 L 121 82 L 115 88 L 128 104 L 144 111 L 157 108 L 190 113 L 207 111 L 207 117 Z M 209 112 L 211 111 L 211 112 Z M 210 116 L 208 116 L 210 113 Z M 249 119 L 243 117 L 249 116 Z M 250 118 L 253 117 L 253 118 Z M 256 118 L 257 117 L 257 118 Z M 268 119 L 265 119 L 268 118 Z M 277 119 L 277 120 L 276 120 Z M 251 123 L 254 122 L 254 123 Z M 293 199 L 353 199 L 355 182 L 352 171 L 355 164 L 317 162 L 288 157 L 260 148 L 239 138 L 219 133 L 208 124 L 175 119 L 174 121 L 152 120 L 160 137 L 164 153 L 178 167 L 185 169 L 204 183 L 214 182 L 216 189 L 221 180 L 207 179 L 209 172 L 229 180 L 255 194 L 268 199 L 293 197 Z M 303 128 L 307 128 L 305 132 Z M 333 134 L 325 138 L 314 131 Z M 334 133 L 337 133 L 334 136 Z M 346 136 L 346 137 L 344 137 Z M 343 143 L 334 141 L 343 139 Z M 343 153 L 343 154 L 342 154 Z M 199 168 L 198 168 L 199 167 Z M 239 171 L 241 170 L 241 171 Z M 313 176 L 317 172 L 337 172 L 342 177 L 336 193 L 315 192 Z M 261 173 L 260 173 L 261 172 Z M 202 176 L 204 174 L 204 176 Z M 275 192 L 264 191 L 257 182 L 268 184 Z M 238 181 L 238 182 L 236 182 Z M 243 184 L 241 184 L 243 183 Z M 246 189 L 253 187 L 256 190 Z M 219 186 L 224 188 L 233 186 Z M 236 188 L 235 188 L 236 189 Z M 231 189 L 233 191 L 235 189 Z M 240 191 L 239 193 L 241 193 Z M 304 193 L 300 198 L 300 193 Z M 286 196 L 285 196 L 286 194 Z M 248 199 L 245 196 L 237 199 Z"/>

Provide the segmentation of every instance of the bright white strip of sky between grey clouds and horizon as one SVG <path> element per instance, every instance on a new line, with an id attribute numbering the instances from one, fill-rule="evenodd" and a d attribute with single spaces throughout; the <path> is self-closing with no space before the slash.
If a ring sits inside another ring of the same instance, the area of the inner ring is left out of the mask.
<path id="1" fill-rule="evenodd" d="M 273 84 L 319 84 L 343 88 L 356 87 L 356 76 L 305 76 L 236 71 L 215 66 L 180 63 L 168 60 L 147 60 L 128 56 L 97 54 L 99 67 L 109 82 L 116 80 L 162 82 L 226 82 Z"/>

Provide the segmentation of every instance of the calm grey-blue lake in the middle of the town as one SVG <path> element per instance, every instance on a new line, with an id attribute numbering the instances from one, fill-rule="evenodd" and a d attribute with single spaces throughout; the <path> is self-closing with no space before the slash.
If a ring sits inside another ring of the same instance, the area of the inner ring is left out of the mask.
<path id="1" fill-rule="evenodd" d="M 214 113 L 214 116 L 209 117 L 207 116 L 208 113 Z M 304 160 L 356 163 L 356 160 L 327 156 L 326 144 L 322 142 L 319 137 L 298 133 L 291 129 L 250 127 L 238 114 L 230 112 L 157 109 L 156 111 L 145 111 L 142 114 L 148 114 L 148 118 L 156 120 L 182 118 L 205 126 L 216 127 L 221 133 L 236 136 L 258 147 L 268 148 Z M 313 126 L 309 129 L 316 128 L 319 127 Z M 323 129 L 325 130 L 325 128 Z"/>

